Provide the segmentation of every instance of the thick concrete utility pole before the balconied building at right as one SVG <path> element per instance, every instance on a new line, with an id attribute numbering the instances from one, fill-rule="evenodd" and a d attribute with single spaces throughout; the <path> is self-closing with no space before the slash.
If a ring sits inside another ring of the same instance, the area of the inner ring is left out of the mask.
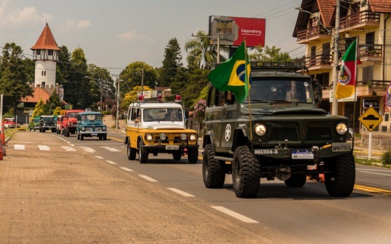
<path id="1" fill-rule="evenodd" d="M 337 5 L 335 7 L 335 31 L 334 31 L 334 66 L 333 66 L 333 99 L 332 99 L 332 108 L 331 108 L 331 114 L 332 115 L 338 115 L 338 100 L 335 97 L 335 91 L 337 89 L 337 82 L 338 82 L 338 69 L 337 67 L 339 58 L 339 17 L 340 17 L 340 6 L 341 1 L 337 0 Z"/>

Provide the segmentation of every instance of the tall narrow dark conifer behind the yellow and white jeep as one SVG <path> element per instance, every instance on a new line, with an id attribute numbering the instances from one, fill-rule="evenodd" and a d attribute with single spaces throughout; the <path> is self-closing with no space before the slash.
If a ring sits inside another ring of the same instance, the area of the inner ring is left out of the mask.
<path id="1" fill-rule="evenodd" d="M 174 81 L 177 69 L 182 66 L 182 55 L 176 38 L 170 39 L 164 50 L 163 67 L 161 68 L 159 85 L 170 87 Z"/>

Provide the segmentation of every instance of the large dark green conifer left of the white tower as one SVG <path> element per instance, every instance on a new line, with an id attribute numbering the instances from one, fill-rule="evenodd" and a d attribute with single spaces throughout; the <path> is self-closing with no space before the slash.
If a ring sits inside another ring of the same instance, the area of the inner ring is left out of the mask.
<path id="1" fill-rule="evenodd" d="M 20 98 L 33 94 L 26 84 L 28 75 L 23 57 L 22 47 L 14 42 L 5 43 L 0 58 L 0 93 L 4 95 L 4 104 L 10 104 L 14 109 Z"/>

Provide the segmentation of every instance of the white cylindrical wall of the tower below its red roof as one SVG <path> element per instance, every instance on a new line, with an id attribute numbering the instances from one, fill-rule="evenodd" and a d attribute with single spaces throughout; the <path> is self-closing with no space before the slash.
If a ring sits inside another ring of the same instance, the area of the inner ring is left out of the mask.
<path id="1" fill-rule="evenodd" d="M 34 84 L 45 87 L 54 87 L 56 84 L 56 61 L 53 60 L 36 60 L 35 61 L 35 79 Z"/>

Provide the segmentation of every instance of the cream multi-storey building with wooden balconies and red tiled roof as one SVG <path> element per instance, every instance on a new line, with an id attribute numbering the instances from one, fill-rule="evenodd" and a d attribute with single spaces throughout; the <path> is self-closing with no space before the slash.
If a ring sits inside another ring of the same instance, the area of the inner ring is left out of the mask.
<path id="1" fill-rule="evenodd" d="M 296 21 L 293 37 L 298 44 L 305 44 L 303 59 L 309 74 L 323 86 L 321 107 L 327 112 L 332 107 L 333 45 L 335 33 L 335 0 L 303 0 Z M 311 14 L 307 13 L 310 12 Z M 341 58 L 349 44 L 358 38 L 358 65 L 356 88 L 356 111 L 354 96 L 338 101 L 338 114 L 348 117 L 355 131 L 359 132 L 357 118 L 368 104 L 386 117 L 385 95 L 391 82 L 391 0 L 341 1 L 340 7 L 340 53 Z M 332 35 L 330 35 L 330 32 Z M 341 60 L 339 62 L 341 65 Z M 377 101 L 377 102 L 376 102 Z M 389 117 L 390 115 L 388 115 Z M 390 131 L 390 126 L 379 126 Z"/>

